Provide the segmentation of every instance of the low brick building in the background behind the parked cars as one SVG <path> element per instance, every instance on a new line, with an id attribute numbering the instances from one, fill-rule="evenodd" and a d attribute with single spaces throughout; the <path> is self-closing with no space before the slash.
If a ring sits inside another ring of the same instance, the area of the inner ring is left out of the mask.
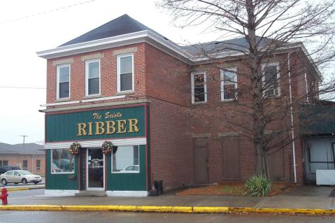
<path id="1" fill-rule="evenodd" d="M 19 166 L 34 174 L 44 174 L 45 151 L 43 145 L 25 143 L 10 145 L 0 143 L 1 166 Z"/>

